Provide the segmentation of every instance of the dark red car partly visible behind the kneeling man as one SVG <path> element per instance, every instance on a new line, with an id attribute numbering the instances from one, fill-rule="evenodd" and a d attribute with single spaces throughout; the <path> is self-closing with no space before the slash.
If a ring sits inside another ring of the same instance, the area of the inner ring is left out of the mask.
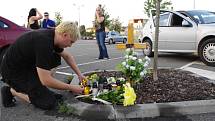
<path id="1" fill-rule="evenodd" d="M 14 43 L 21 34 L 27 31 L 30 29 L 21 27 L 0 16 L 0 48 Z"/>

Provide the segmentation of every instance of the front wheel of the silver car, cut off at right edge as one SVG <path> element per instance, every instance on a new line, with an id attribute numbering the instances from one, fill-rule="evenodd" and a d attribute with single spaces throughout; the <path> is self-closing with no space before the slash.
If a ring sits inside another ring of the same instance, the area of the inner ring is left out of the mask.
<path id="1" fill-rule="evenodd" d="M 215 66 L 215 38 L 207 39 L 200 45 L 199 56 L 206 65 Z"/>

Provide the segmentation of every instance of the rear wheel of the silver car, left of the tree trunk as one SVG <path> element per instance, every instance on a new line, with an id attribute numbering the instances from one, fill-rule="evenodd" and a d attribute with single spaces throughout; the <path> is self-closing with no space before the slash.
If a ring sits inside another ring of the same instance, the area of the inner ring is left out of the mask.
<path id="1" fill-rule="evenodd" d="M 143 40 L 144 43 L 146 43 L 146 48 L 143 49 L 143 54 L 149 57 L 152 57 L 154 53 L 152 52 L 152 42 L 150 39 Z"/>

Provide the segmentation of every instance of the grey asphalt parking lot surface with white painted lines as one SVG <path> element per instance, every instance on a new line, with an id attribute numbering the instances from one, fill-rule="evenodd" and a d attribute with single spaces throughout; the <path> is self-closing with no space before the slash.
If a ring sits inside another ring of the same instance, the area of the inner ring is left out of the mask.
<path id="1" fill-rule="evenodd" d="M 82 72 L 89 72 L 94 70 L 113 70 L 116 65 L 123 59 L 123 51 L 117 50 L 115 45 L 107 45 L 108 53 L 111 59 L 96 60 L 98 57 L 98 48 L 95 40 L 80 40 L 73 47 L 67 50 L 71 52 Z M 142 52 L 138 50 L 138 55 L 141 57 Z M 151 58 L 153 65 L 153 58 Z M 158 66 L 160 68 L 181 68 L 194 71 L 194 73 L 203 72 L 208 78 L 213 77 L 215 68 L 208 67 L 199 61 L 195 55 L 187 54 L 172 54 L 160 53 Z M 73 71 L 62 61 L 62 65 L 57 68 L 56 78 L 64 80 L 67 75 L 71 75 Z M 206 73 L 206 74 L 205 74 Z M 211 76 L 212 75 L 212 76 Z M 0 82 L 0 85 L 4 85 Z M 63 93 L 63 91 L 60 91 Z M 67 97 L 69 98 L 69 97 Z M 78 116 L 56 116 L 55 113 L 49 111 L 42 111 L 34 108 L 32 105 L 26 104 L 20 100 L 17 105 L 12 108 L 4 108 L 0 104 L 0 119 L 1 121 L 82 121 Z M 187 115 L 179 117 L 157 117 L 146 119 L 122 119 L 122 121 L 215 121 L 215 113 L 201 114 L 201 115 Z M 92 119 L 93 120 L 93 119 Z"/>

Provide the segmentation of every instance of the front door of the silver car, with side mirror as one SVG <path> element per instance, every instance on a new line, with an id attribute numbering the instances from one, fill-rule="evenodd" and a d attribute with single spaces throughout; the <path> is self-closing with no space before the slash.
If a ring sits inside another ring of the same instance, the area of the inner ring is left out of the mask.
<path id="1" fill-rule="evenodd" d="M 160 41 L 164 51 L 194 52 L 196 45 L 196 26 L 179 13 L 170 13 L 168 27 L 160 27 Z"/>

